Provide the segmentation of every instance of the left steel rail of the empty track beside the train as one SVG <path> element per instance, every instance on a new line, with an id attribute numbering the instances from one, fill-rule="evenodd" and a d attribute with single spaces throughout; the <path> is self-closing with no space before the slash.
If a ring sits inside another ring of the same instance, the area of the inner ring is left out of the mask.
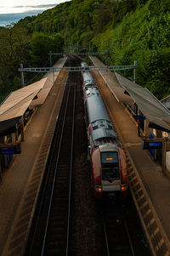
<path id="1" fill-rule="evenodd" d="M 48 206 L 48 218 L 47 218 L 44 237 L 43 237 L 43 242 L 42 242 L 42 253 L 41 253 L 41 255 L 43 255 L 43 253 L 44 253 L 45 242 L 46 242 L 46 237 L 47 237 L 47 232 L 48 232 L 49 215 L 50 215 L 50 212 L 51 212 L 51 206 L 52 206 L 52 201 L 53 201 L 53 196 L 54 196 L 54 184 L 55 184 L 55 179 L 56 179 L 57 169 L 58 169 L 58 164 L 59 164 L 59 155 L 60 155 L 61 142 L 62 142 L 62 139 L 63 139 L 63 132 L 64 132 L 64 126 L 65 126 L 65 117 L 66 117 L 67 105 L 68 105 L 68 101 L 69 101 L 69 94 L 70 94 L 70 87 L 67 91 L 66 107 L 65 107 L 64 119 L 63 119 L 63 123 L 62 123 L 60 139 L 59 139 L 59 152 L 58 152 L 58 155 L 57 155 L 57 161 L 56 161 L 56 165 L 55 165 L 55 169 L 54 169 L 54 180 L 53 180 L 53 185 L 52 185 L 52 192 L 51 192 L 51 196 L 50 196 L 50 202 L 49 202 L 49 206 Z"/>

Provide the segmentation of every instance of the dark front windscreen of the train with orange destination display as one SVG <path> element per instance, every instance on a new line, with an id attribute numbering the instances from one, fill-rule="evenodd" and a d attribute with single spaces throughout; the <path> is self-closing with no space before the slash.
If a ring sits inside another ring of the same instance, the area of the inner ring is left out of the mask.
<path id="1" fill-rule="evenodd" d="M 102 179 L 120 179 L 119 159 L 116 151 L 101 152 Z"/>

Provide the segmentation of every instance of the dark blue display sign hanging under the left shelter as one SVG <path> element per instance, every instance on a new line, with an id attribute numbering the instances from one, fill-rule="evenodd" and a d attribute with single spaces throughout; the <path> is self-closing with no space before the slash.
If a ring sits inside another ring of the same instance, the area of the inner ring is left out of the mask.
<path id="1" fill-rule="evenodd" d="M 0 144 L 0 154 L 20 154 L 21 153 L 21 143 L 7 143 Z"/>

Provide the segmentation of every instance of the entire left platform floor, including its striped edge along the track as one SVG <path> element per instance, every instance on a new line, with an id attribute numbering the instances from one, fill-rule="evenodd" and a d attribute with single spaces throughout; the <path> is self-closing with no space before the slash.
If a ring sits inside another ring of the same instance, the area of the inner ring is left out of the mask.
<path id="1" fill-rule="evenodd" d="M 55 66 L 65 65 L 61 58 Z M 22 255 L 31 225 L 48 152 L 53 139 L 68 72 L 58 72 L 47 99 L 31 117 L 21 154 L 3 172 L 0 184 L 0 255 Z M 51 79 L 53 82 L 53 79 Z"/>

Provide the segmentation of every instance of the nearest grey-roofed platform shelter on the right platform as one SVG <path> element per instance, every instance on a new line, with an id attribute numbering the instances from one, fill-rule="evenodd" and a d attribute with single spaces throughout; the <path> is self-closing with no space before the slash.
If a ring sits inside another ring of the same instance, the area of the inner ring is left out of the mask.
<path id="1" fill-rule="evenodd" d="M 143 137 L 145 142 L 148 141 L 148 145 L 150 141 L 155 142 L 152 144 L 155 147 L 148 148 L 150 156 L 164 164 L 164 168 L 170 173 L 170 111 L 164 104 L 165 100 L 157 100 L 147 88 L 118 73 L 115 73 L 115 76 L 115 86 L 110 87 L 112 94 L 126 106 L 138 123 L 139 136 Z"/>

